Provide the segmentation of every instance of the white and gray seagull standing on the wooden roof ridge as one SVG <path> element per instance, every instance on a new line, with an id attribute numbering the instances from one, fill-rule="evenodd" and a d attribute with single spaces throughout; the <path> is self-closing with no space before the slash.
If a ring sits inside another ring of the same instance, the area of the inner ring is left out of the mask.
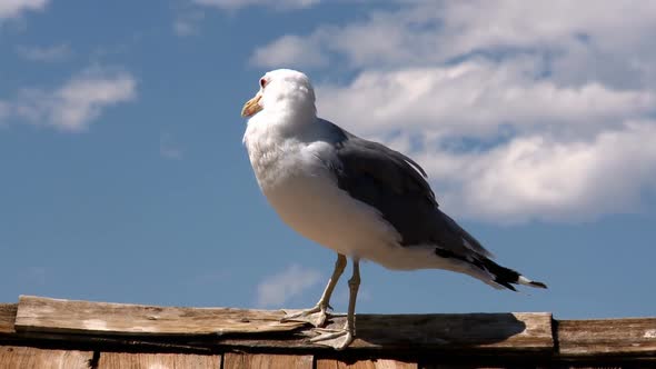
<path id="1" fill-rule="evenodd" d="M 330 296 L 351 259 L 346 323 L 319 329 L 311 342 L 338 350 L 352 342 L 360 260 L 392 270 L 450 270 L 498 289 L 546 288 L 493 261 L 439 209 L 426 172 L 413 159 L 318 118 L 312 84 L 302 72 L 267 72 L 241 116 L 248 118 L 243 144 L 269 203 L 298 233 L 337 252 L 317 305 L 284 320 L 324 326 Z"/>

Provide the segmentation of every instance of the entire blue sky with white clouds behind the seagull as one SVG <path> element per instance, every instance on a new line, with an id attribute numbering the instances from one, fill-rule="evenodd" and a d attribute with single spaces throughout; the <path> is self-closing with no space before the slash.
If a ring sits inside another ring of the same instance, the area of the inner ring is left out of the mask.
<path id="1" fill-rule="evenodd" d="M 550 288 L 365 263 L 358 311 L 654 316 L 655 24 L 646 1 L 0 0 L 0 301 L 314 305 L 334 253 L 241 144 L 259 77 L 291 67 Z"/>

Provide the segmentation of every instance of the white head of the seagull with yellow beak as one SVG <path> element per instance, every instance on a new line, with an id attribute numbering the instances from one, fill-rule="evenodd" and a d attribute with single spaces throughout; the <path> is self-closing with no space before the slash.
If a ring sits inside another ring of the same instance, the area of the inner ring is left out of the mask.
<path id="1" fill-rule="evenodd" d="M 315 90 L 310 79 L 296 70 L 272 70 L 259 80 L 260 89 L 241 109 L 241 117 L 260 111 L 316 114 Z"/>

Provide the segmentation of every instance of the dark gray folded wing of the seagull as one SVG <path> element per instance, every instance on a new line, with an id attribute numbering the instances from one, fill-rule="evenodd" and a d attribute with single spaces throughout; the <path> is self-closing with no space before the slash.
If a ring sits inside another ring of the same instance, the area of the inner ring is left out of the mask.
<path id="1" fill-rule="evenodd" d="M 331 122 L 337 161 L 329 163 L 340 189 L 380 211 L 401 245 L 435 245 L 443 257 L 491 257 L 480 242 L 439 210 L 426 172 L 405 154 L 351 134 Z"/>

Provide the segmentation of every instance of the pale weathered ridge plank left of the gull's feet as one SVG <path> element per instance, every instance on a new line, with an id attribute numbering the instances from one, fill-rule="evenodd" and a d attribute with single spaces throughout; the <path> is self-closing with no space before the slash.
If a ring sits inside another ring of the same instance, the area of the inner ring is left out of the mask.
<path id="1" fill-rule="evenodd" d="M 225 335 L 284 332 L 305 326 L 280 322 L 284 311 L 177 308 L 21 296 L 17 331 L 102 335 Z"/>

